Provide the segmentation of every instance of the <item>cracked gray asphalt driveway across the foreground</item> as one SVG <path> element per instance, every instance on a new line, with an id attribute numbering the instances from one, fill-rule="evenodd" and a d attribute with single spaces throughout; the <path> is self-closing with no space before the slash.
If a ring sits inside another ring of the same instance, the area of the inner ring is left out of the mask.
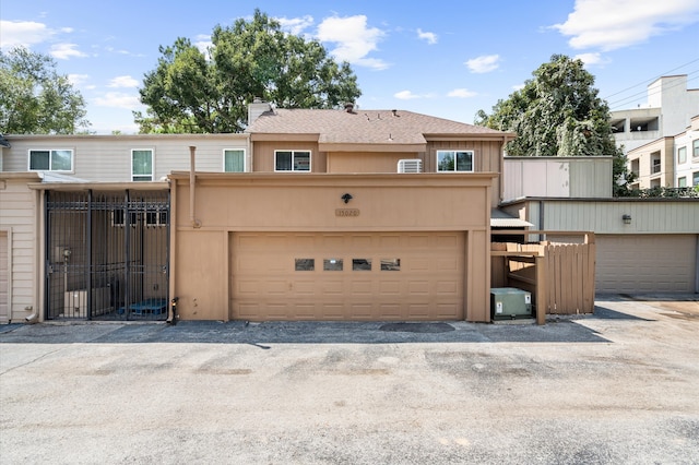
<path id="1" fill-rule="evenodd" d="M 0 326 L 0 463 L 697 464 L 692 298 L 545 326 Z"/>

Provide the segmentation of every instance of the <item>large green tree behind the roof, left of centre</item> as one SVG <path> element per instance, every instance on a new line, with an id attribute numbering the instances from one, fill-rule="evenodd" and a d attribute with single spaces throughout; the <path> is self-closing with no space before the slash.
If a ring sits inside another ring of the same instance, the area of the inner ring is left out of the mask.
<path id="1" fill-rule="evenodd" d="M 146 115 L 134 112 L 141 132 L 240 132 L 254 97 L 280 108 L 336 108 L 362 95 L 348 63 L 260 10 L 250 22 L 216 26 L 208 53 L 182 37 L 159 52 L 140 90 Z"/>

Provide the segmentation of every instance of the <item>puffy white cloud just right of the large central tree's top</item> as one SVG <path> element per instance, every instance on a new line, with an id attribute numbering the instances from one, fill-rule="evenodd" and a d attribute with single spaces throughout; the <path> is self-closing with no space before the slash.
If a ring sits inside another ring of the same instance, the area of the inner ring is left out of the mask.
<path id="1" fill-rule="evenodd" d="M 367 58 L 367 55 L 378 49 L 377 44 L 383 35 L 381 29 L 367 26 L 365 15 L 332 16 L 318 25 L 317 38 L 336 44 L 332 55 L 341 61 L 381 70 L 389 64 L 378 58 Z"/>

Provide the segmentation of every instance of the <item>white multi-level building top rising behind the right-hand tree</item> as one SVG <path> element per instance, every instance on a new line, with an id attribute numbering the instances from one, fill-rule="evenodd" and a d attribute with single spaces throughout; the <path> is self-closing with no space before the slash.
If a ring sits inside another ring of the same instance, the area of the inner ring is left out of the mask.
<path id="1" fill-rule="evenodd" d="M 614 139 L 628 153 L 684 131 L 699 114 L 699 88 L 687 87 L 687 75 L 662 76 L 648 86 L 648 104 L 612 111 Z"/>

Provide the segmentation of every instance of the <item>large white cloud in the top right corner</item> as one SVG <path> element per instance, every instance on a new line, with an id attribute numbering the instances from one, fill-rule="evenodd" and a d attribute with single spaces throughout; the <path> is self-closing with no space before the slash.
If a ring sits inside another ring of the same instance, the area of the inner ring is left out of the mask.
<path id="1" fill-rule="evenodd" d="M 565 23 L 554 24 L 576 49 L 615 50 L 699 21 L 697 0 L 576 0 Z"/>

